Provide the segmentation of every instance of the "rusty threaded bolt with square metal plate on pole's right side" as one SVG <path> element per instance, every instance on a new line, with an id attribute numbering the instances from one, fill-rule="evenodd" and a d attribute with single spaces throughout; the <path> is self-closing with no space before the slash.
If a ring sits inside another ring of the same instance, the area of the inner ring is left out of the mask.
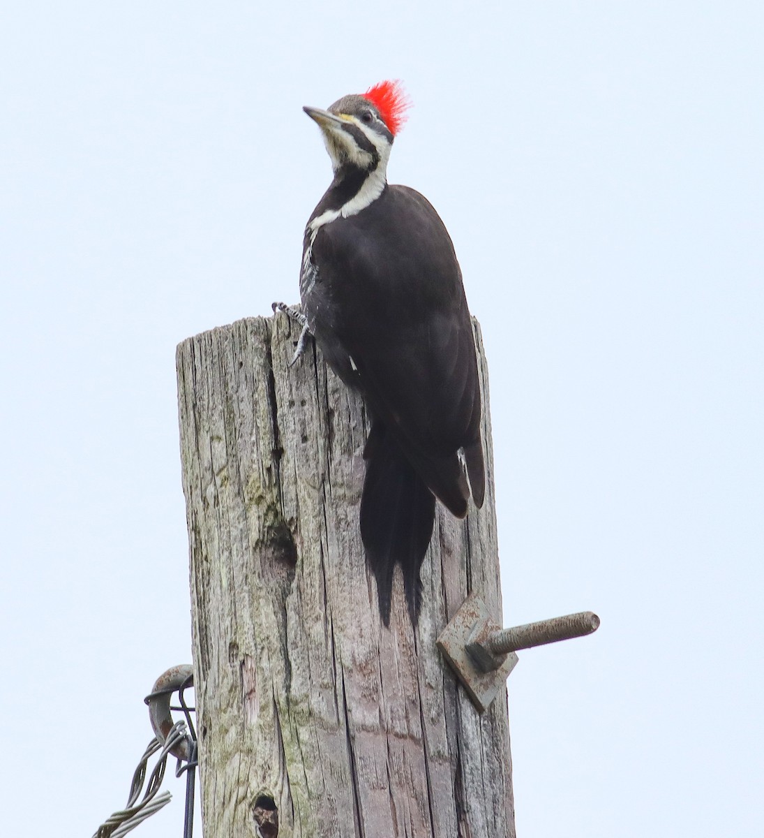
<path id="1" fill-rule="evenodd" d="M 599 625 L 596 614 L 583 611 L 502 629 L 491 619 L 483 600 L 471 593 L 441 632 L 437 647 L 472 703 L 483 713 L 514 670 L 518 662 L 515 651 L 583 637 L 596 631 Z"/>

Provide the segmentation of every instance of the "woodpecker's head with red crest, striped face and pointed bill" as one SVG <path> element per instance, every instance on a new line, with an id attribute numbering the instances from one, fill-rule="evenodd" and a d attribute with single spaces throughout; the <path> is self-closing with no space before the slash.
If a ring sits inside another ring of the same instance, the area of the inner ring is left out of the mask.
<path id="1" fill-rule="evenodd" d="M 400 81 L 381 81 L 364 94 L 343 96 L 326 111 L 317 107 L 302 110 L 321 128 L 335 173 L 343 168 L 384 173 L 395 134 L 409 107 Z"/>

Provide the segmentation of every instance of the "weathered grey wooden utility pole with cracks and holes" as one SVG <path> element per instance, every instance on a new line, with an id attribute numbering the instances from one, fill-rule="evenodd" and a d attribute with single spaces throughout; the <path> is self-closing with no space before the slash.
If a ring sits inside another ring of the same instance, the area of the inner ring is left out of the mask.
<path id="1" fill-rule="evenodd" d="M 284 315 L 178 347 L 205 838 L 513 838 L 506 691 L 480 715 L 436 649 L 470 592 L 502 613 L 476 339 L 485 504 L 438 504 L 416 631 L 365 566 L 359 397 Z"/>

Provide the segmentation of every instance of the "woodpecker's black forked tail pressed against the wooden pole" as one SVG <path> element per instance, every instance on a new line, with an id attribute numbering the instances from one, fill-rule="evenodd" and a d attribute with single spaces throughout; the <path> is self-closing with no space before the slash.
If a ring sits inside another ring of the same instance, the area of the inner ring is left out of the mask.
<path id="1" fill-rule="evenodd" d="M 411 467 L 385 427 L 374 422 L 364 458 L 361 538 L 366 561 L 377 579 L 379 613 L 390 625 L 395 563 L 403 571 L 406 601 L 416 626 L 421 605 L 419 571 L 435 522 L 435 495 Z"/>

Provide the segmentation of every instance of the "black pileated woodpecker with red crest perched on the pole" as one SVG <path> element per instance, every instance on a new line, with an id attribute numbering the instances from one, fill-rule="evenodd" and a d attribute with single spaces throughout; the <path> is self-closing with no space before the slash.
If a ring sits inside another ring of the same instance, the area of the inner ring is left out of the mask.
<path id="1" fill-rule="evenodd" d="M 463 518 L 470 490 L 478 506 L 485 492 L 478 364 L 451 237 L 426 198 L 387 183 L 407 107 L 400 83 L 383 81 L 327 111 L 304 108 L 334 178 L 305 230 L 302 338 L 313 335 L 371 415 L 360 526 L 385 625 L 396 563 L 419 617 L 435 499 Z"/>

